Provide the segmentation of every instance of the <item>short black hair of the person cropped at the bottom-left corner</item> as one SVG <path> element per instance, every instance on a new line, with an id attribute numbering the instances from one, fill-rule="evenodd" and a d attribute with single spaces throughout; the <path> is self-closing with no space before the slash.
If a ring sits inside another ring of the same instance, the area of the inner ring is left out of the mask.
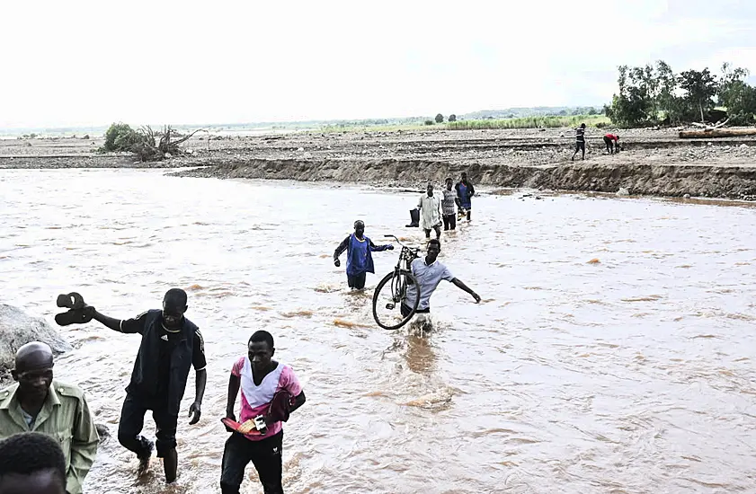
<path id="1" fill-rule="evenodd" d="M 22 432 L 0 441 L 0 477 L 43 470 L 55 471 L 66 485 L 66 457 L 58 441 L 39 432 Z"/>

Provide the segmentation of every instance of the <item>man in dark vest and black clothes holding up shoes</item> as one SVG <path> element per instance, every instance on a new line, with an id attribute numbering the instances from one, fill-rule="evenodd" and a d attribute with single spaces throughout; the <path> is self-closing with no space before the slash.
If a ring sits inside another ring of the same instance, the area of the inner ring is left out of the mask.
<path id="1" fill-rule="evenodd" d="M 186 389 L 190 366 L 196 371 L 196 393 L 189 407 L 190 425 L 200 421 L 200 404 L 205 394 L 208 375 L 204 341 L 200 329 L 184 317 L 186 292 L 171 288 L 163 298 L 163 310 L 151 310 L 134 319 L 114 319 L 93 310 L 93 319 L 113 331 L 139 333 L 139 345 L 126 400 L 120 411 L 118 440 L 137 454 L 138 474 L 147 472 L 153 443 L 140 436 L 145 413 L 152 410 L 157 428 L 157 457 L 163 458 L 165 481 L 176 480 L 176 428 L 179 409 Z"/>

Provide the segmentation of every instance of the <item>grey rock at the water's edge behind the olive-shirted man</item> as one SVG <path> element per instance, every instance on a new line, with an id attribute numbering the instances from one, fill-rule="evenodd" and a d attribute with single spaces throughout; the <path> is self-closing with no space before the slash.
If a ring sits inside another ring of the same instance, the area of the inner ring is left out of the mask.
<path id="1" fill-rule="evenodd" d="M 0 304 L 0 374 L 13 368 L 16 351 L 30 341 L 47 343 L 56 355 L 71 349 L 41 317 L 33 317 L 13 305 Z"/>

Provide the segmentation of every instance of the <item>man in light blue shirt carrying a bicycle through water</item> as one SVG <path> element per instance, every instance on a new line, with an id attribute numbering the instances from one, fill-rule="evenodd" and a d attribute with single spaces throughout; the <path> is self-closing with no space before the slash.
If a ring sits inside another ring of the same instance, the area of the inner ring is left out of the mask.
<path id="1" fill-rule="evenodd" d="M 431 295 L 439 287 L 442 279 L 450 281 L 456 287 L 465 290 L 468 294 L 476 299 L 476 304 L 480 302 L 480 296 L 478 296 L 470 287 L 467 287 L 461 280 L 455 278 L 451 274 L 449 268 L 441 264 L 436 258 L 439 257 L 441 251 L 441 243 L 438 239 L 433 239 L 428 242 L 428 252 L 425 255 L 425 259 L 418 258 L 412 261 L 410 265 L 414 278 L 417 279 L 417 284 L 420 287 L 420 302 L 417 304 L 417 310 L 415 313 L 430 313 L 431 312 Z M 407 306 L 405 302 L 407 300 L 414 300 L 417 296 L 417 287 L 414 285 L 407 286 L 407 292 L 405 300 L 402 301 L 401 311 L 402 316 L 407 317 L 412 313 L 412 308 Z"/>

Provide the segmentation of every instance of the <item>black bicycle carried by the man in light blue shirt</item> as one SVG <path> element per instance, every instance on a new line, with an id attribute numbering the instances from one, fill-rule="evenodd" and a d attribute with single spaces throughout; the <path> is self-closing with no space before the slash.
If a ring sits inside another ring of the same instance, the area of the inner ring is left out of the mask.
<path id="1" fill-rule="evenodd" d="M 398 330 L 412 319 L 417 310 L 417 304 L 420 303 L 420 289 L 411 269 L 412 261 L 420 257 L 418 254 L 420 249 L 407 247 L 404 243 L 399 242 L 395 235 L 383 236 L 393 238 L 396 243 L 402 246 L 402 250 L 399 251 L 399 260 L 396 261 L 394 270 L 380 280 L 376 291 L 373 293 L 373 318 L 378 326 L 385 330 Z M 414 300 L 407 300 L 408 285 L 418 287 L 414 290 Z M 411 309 L 407 315 L 401 315 L 402 304 Z M 384 309 L 386 310 L 384 311 Z M 401 320 L 397 319 L 397 309 Z"/>

